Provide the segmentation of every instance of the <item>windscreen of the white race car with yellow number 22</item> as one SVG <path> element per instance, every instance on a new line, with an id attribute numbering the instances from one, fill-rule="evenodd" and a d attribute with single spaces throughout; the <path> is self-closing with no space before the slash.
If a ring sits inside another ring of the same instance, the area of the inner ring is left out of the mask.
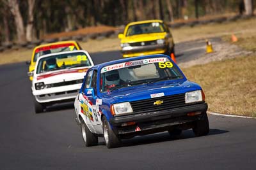
<path id="1" fill-rule="evenodd" d="M 84 52 L 63 53 L 44 57 L 38 61 L 36 74 L 61 69 L 72 69 L 74 67 L 92 66 Z"/>

